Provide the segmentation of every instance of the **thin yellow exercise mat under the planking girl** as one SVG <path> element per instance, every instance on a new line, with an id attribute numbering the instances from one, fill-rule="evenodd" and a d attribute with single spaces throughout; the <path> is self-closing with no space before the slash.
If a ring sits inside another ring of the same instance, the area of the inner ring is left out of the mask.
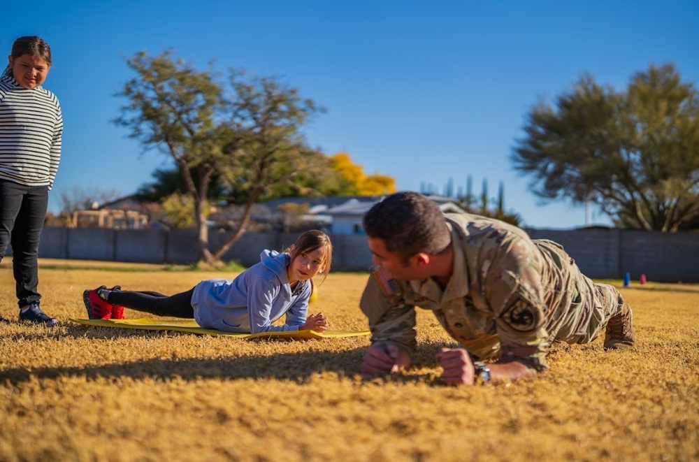
<path id="1" fill-rule="evenodd" d="M 289 332 L 261 332 L 261 333 L 235 333 L 219 331 L 217 329 L 204 329 L 196 324 L 194 319 L 176 319 L 174 321 L 141 317 L 138 319 L 75 319 L 72 322 L 87 326 L 119 327 L 122 329 L 145 329 L 147 331 L 180 331 L 199 333 L 202 335 L 231 335 L 240 338 L 336 338 L 359 337 L 369 335 L 370 331 L 289 331 Z"/>

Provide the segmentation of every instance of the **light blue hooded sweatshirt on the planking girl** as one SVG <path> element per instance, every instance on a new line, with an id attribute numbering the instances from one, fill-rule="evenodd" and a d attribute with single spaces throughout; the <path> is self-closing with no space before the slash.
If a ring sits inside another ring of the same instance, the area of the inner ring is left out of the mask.
<path id="1" fill-rule="evenodd" d="M 310 281 L 298 281 L 291 293 L 287 277 L 289 254 L 264 250 L 260 263 L 234 280 L 212 279 L 196 284 L 192 294 L 194 319 L 206 329 L 259 333 L 298 331 L 308 315 Z M 272 323 L 287 315 L 283 326 Z"/>

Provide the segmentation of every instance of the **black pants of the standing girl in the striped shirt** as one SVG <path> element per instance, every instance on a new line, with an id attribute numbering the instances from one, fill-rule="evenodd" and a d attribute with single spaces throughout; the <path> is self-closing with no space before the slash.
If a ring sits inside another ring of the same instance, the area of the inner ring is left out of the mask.
<path id="1" fill-rule="evenodd" d="M 12 245 L 12 270 L 20 308 L 41 299 L 38 293 L 39 238 L 48 207 L 48 186 L 0 180 L 0 261 Z"/>

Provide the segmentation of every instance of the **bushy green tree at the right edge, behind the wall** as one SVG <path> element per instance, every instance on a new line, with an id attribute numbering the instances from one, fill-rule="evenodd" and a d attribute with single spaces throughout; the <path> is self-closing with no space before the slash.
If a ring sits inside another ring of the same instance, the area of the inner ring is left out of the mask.
<path id="1" fill-rule="evenodd" d="M 533 107 L 524 133 L 511 159 L 545 200 L 590 201 L 635 229 L 678 231 L 699 216 L 699 105 L 672 64 L 624 91 L 584 75 L 555 106 Z"/>

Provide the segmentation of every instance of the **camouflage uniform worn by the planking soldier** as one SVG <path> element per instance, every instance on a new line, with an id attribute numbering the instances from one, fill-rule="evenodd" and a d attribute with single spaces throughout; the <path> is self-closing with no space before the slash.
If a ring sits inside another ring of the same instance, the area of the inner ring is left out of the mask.
<path id="1" fill-rule="evenodd" d="M 477 215 L 449 215 L 447 224 L 454 262 L 444 289 L 432 278 L 382 282 L 380 269 L 369 278 L 360 307 L 373 343 L 412 354 L 417 306 L 432 310 L 476 359 L 509 355 L 543 370 L 554 340 L 591 341 L 606 322 L 603 312 L 618 303 L 615 289 L 600 289 L 550 240 Z"/>

